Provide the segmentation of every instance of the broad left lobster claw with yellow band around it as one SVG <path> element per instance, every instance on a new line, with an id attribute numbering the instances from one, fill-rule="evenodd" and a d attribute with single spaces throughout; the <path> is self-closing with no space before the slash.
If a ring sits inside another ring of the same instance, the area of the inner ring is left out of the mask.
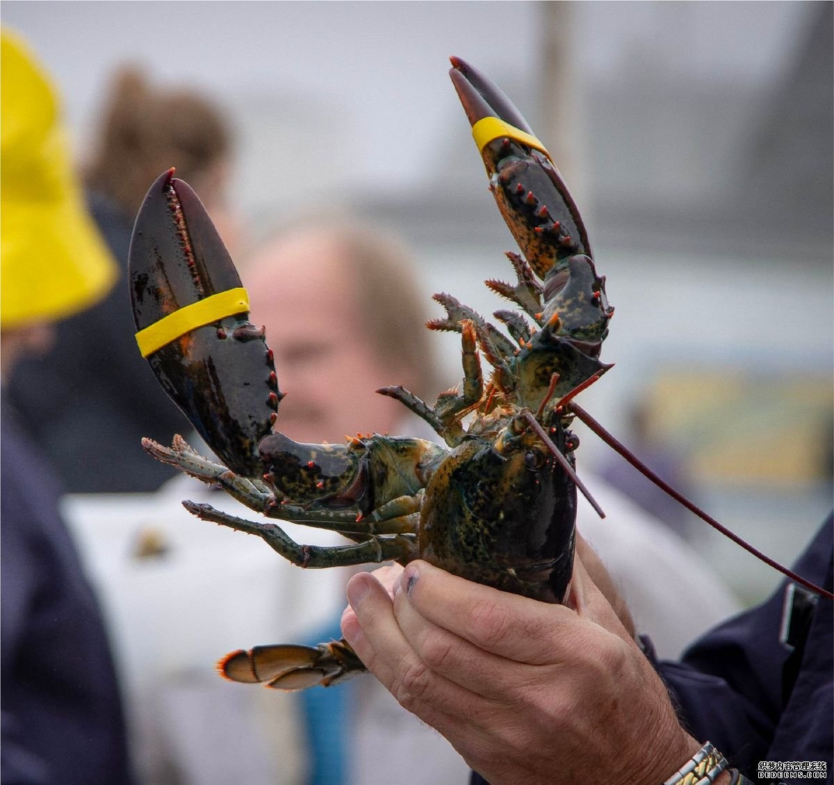
<path id="1" fill-rule="evenodd" d="M 264 330 L 197 194 L 161 174 L 130 243 L 139 350 L 163 389 L 236 474 L 259 476 L 259 441 L 283 397 Z"/>

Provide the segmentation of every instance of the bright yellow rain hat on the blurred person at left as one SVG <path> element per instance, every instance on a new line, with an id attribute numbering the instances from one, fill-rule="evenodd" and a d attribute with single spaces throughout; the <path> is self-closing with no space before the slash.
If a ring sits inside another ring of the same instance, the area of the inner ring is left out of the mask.
<path id="1" fill-rule="evenodd" d="M 58 99 L 18 36 L 0 33 L 0 325 L 73 315 L 116 264 L 84 207 Z"/>

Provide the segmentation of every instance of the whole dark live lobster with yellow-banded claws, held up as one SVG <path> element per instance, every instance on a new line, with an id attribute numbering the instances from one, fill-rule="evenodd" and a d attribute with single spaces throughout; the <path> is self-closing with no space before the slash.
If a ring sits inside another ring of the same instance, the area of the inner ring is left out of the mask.
<path id="1" fill-rule="evenodd" d="M 446 315 L 427 326 L 460 333 L 460 390 L 441 393 L 434 406 L 401 386 L 377 390 L 419 415 L 445 446 L 379 434 L 341 445 L 299 444 L 274 430 L 284 394 L 264 330 L 249 322 L 234 264 L 197 195 L 173 169 L 153 183 L 133 229 L 137 341 L 220 462 L 198 455 L 181 436 L 169 448 L 148 439 L 143 446 L 270 522 L 183 502 L 193 515 L 259 536 L 298 566 L 420 558 L 504 591 L 562 602 L 573 566 L 577 488 L 602 514 L 575 474 L 574 417 L 633 459 L 572 400 L 611 367 L 600 349 L 614 309 L 585 224 L 544 145 L 490 79 L 451 60 L 490 190 L 524 256 L 507 254 L 515 284 L 486 281 L 522 312 L 495 312 L 510 338 L 449 294 L 435 294 Z M 480 356 L 492 369 L 486 381 Z M 351 544 L 301 545 L 275 519 L 338 531 Z M 339 641 L 239 650 L 219 670 L 237 682 L 299 689 L 329 686 L 364 666 Z"/>

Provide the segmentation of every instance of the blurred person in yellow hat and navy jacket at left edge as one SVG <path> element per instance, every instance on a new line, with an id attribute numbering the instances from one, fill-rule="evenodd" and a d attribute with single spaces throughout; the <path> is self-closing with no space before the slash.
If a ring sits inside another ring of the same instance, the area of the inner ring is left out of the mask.
<path id="1" fill-rule="evenodd" d="M 55 471 L 6 390 L 56 320 L 101 299 L 116 269 L 83 208 L 47 78 L 2 33 L 3 453 L 0 559 L 4 785 L 129 785 L 122 705 L 103 619 L 58 514 Z"/>

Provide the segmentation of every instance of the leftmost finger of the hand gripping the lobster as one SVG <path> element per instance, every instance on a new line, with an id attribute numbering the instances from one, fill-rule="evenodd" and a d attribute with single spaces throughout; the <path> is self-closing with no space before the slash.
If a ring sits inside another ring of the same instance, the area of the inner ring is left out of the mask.
<path id="1" fill-rule="evenodd" d="M 343 622 L 344 637 L 403 707 L 438 730 L 444 715 L 483 712 L 482 698 L 432 672 L 414 652 L 394 618 L 390 596 L 374 576 L 353 576 L 348 599 L 356 616 Z"/>

